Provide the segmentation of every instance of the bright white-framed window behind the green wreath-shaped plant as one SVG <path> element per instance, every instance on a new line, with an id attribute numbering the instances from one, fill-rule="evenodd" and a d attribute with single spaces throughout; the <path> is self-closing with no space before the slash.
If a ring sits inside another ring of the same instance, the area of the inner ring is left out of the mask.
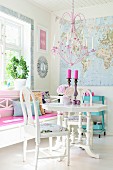
<path id="1" fill-rule="evenodd" d="M 9 80 L 6 73 L 7 63 L 13 56 L 18 58 L 27 56 L 25 59 L 30 66 L 30 48 L 28 47 L 31 45 L 31 38 L 29 37 L 31 26 L 14 17 L 0 14 L 0 84 L 3 84 L 6 81 L 13 81 Z M 28 81 L 27 84 L 30 85 L 30 78 Z"/>

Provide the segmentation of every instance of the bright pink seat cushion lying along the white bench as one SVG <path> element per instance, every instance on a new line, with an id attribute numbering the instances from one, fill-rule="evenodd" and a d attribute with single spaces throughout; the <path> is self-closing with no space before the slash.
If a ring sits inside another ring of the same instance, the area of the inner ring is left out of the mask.
<path id="1" fill-rule="evenodd" d="M 39 116 L 39 119 L 47 119 L 47 118 L 53 118 L 56 117 L 57 113 L 46 113 L 45 115 Z M 7 125 L 13 125 L 13 124 L 19 124 L 23 123 L 23 117 L 14 117 L 14 116 L 9 116 L 9 117 L 2 117 L 0 118 L 0 127 L 1 126 L 7 126 Z"/>

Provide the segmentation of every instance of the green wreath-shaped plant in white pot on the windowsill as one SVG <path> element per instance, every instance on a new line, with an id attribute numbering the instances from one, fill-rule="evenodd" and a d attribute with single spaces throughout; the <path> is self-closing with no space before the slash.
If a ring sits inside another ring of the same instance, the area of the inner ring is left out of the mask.
<path id="1" fill-rule="evenodd" d="M 16 90 L 20 90 L 22 86 L 25 86 L 29 69 L 23 56 L 21 56 L 20 59 L 15 56 L 12 57 L 7 64 L 6 71 L 8 76 L 14 79 L 14 86 Z"/>

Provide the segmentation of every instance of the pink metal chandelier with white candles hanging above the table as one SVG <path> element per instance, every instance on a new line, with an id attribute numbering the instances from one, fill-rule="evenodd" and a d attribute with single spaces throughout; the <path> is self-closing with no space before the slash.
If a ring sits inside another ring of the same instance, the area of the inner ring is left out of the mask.
<path id="1" fill-rule="evenodd" d="M 70 18 L 70 21 L 66 20 Z M 72 12 L 65 12 L 61 19 L 61 27 L 63 21 L 69 23 L 69 30 L 60 36 L 60 40 L 55 44 L 55 37 L 52 47 L 52 53 L 58 55 L 67 64 L 73 66 L 81 62 L 84 57 L 89 56 L 91 52 L 95 52 L 93 47 L 93 37 L 91 39 L 91 50 L 88 49 L 88 40 L 84 37 L 85 17 L 83 14 L 74 13 L 74 0 L 72 0 Z"/>

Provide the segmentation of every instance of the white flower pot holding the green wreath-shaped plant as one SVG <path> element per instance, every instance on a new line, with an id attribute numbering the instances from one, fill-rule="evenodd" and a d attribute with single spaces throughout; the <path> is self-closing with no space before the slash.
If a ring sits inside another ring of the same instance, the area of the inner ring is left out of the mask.
<path id="1" fill-rule="evenodd" d="M 21 90 L 21 88 L 25 85 L 26 85 L 26 79 L 15 79 L 14 81 L 15 90 Z"/>

